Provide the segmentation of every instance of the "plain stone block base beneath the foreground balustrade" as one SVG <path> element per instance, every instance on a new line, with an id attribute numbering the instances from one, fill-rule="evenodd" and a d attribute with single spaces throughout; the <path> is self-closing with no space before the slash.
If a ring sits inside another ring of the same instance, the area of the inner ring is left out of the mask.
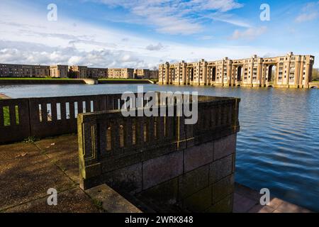
<path id="1" fill-rule="evenodd" d="M 160 205 L 194 212 L 231 212 L 235 145 L 236 135 L 228 135 L 116 170 L 106 182 L 116 189 L 132 189 L 131 194 Z M 128 170 L 133 170 L 130 175 L 125 174 Z"/>

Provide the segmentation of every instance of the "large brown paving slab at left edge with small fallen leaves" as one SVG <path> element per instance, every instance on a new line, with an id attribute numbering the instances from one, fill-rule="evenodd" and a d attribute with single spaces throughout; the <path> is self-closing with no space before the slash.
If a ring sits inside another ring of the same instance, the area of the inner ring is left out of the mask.
<path id="1" fill-rule="evenodd" d="M 39 199 L 45 196 L 47 189 L 50 188 L 60 192 L 74 187 L 74 182 L 48 157 L 39 151 L 34 152 L 32 146 L 23 143 L 16 145 L 24 147 L 23 153 L 26 155 L 1 161 L 0 211 L 26 201 Z M 0 153 L 9 153 L 10 150 L 6 149 L 8 147 L 1 146 Z M 19 153 L 13 153 L 11 156 Z"/>

